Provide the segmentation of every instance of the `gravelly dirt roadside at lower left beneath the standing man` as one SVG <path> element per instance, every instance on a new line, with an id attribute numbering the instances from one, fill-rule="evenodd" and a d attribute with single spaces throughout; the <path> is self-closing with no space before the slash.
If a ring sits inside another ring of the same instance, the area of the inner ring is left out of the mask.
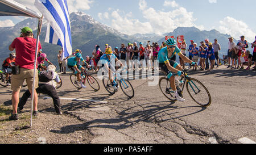
<path id="1" fill-rule="evenodd" d="M 30 127 L 30 109 L 24 108 L 18 120 L 9 120 L 11 100 L 4 103 L 0 104 L 0 144 L 89 144 L 93 139 L 84 122 L 65 112 L 56 115 L 50 106 L 33 117 L 31 128 L 24 128 Z"/>

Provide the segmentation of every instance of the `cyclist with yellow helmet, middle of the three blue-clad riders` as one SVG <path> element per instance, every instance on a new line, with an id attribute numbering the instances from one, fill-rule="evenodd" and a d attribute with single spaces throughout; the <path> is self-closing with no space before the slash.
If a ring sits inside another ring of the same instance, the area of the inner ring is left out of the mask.
<path id="1" fill-rule="evenodd" d="M 111 48 L 106 48 L 106 54 L 102 55 L 100 58 L 100 64 L 105 67 L 106 70 L 109 70 L 109 80 L 112 84 L 113 89 L 117 90 L 117 83 L 114 81 L 112 76 L 113 70 L 115 70 L 115 61 L 117 61 L 120 66 L 123 66 L 122 62 L 113 54 Z"/>

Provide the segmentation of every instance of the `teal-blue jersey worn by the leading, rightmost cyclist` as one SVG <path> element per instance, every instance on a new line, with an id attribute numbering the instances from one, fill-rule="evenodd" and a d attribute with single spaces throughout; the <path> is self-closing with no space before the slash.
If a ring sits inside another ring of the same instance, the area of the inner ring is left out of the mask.
<path id="1" fill-rule="evenodd" d="M 175 47 L 175 50 L 174 50 L 174 53 L 172 53 L 172 56 L 171 57 L 168 57 L 168 50 L 167 50 L 167 47 L 164 47 L 162 49 L 160 49 L 159 53 L 158 53 L 158 60 L 159 60 L 159 63 L 160 64 L 166 64 L 167 62 L 169 62 L 169 60 L 174 57 L 176 55 L 176 53 L 178 55 L 181 54 L 180 52 L 180 49 L 176 46 Z"/>

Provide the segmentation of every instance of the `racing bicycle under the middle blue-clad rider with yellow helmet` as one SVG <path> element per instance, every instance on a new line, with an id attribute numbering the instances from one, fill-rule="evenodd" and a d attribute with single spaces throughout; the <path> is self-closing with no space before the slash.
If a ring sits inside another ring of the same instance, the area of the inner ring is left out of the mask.
<path id="1" fill-rule="evenodd" d="M 129 82 L 128 79 L 123 79 L 119 71 L 115 71 L 114 73 L 114 81 L 117 83 L 116 87 L 117 89 L 115 90 L 112 86 L 112 83 L 110 82 L 110 79 L 108 76 L 104 76 L 102 78 L 103 85 L 105 89 L 111 94 L 114 95 L 117 91 L 118 88 L 121 87 L 123 93 L 129 97 L 133 98 L 134 97 L 134 89 L 131 83 Z"/>

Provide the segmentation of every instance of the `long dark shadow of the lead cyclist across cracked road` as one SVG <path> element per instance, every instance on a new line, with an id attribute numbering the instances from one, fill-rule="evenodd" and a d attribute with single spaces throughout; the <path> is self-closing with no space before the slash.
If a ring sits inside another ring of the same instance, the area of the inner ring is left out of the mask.
<path id="1" fill-rule="evenodd" d="M 174 102 L 169 102 L 170 104 L 161 106 L 156 105 L 155 103 L 166 103 L 166 101 L 162 102 L 150 102 L 145 103 L 142 105 L 134 106 L 131 108 L 127 108 L 121 112 L 119 112 L 119 116 L 117 118 L 110 118 L 110 119 L 96 119 L 89 122 L 86 122 L 84 124 L 77 124 L 77 125 L 67 125 L 61 130 L 51 130 L 51 132 L 54 133 L 72 133 L 79 130 L 84 130 L 88 128 L 110 128 L 110 129 L 125 129 L 132 127 L 133 125 L 139 123 L 139 122 L 154 122 L 154 123 L 160 123 L 160 122 L 168 122 L 170 120 L 183 118 L 185 116 L 193 115 L 198 112 L 204 111 L 206 108 L 201 106 L 185 106 L 185 107 L 178 107 L 173 106 Z M 72 105 L 69 105 L 72 106 Z M 85 106 L 85 105 L 84 105 Z M 142 110 L 133 112 L 133 108 L 143 107 Z M 190 112 L 189 114 L 184 114 L 184 111 L 182 115 L 179 115 L 179 111 L 182 108 L 200 108 L 200 110 L 196 110 L 194 112 Z M 129 112 L 131 111 L 131 112 Z M 98 125 L 100 123 L 100 125 Z M 95 125 L 94 125 L 95 124 Z"/>

